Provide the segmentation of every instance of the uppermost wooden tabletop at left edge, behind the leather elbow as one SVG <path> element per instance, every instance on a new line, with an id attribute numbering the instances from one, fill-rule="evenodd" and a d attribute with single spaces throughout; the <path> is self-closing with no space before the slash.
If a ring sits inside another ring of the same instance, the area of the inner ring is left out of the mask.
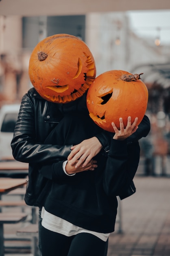
<path id="1" fill-rule="evenodd" d="M 0 162 L 0 177 L 26 177 L 28 163 L 18 161 Z"/>

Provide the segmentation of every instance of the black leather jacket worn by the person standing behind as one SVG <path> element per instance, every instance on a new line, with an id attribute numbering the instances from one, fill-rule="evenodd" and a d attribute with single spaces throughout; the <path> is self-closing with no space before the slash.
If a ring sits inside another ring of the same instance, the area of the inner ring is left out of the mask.
<path id="1" fill-rule="evenodd" d="M 81 105 L 81 100 L 79 102 Z M 64 105 L 66 107 L 72 106 L 71 104 Z M 37 171 L 39 164 L 43 162 L 54 163 L 58 159 L 65 159 L 70 153 L 72 145 L 61 147 L 43 144 L 50 131 L 62 118 L 61 104 L 44 100 L 34 88 L 31 88 L 22 98 L 11 147 L 13 157 L 17 161 L 29 163 L 28 185 L 25 195 L 25 201 L 28 205 L 41 207 L 49 190 L 48 180 Z M 148 134 L 150 130 L 148 117 L 144 117 L 139 127 L 136 134 L 129 137 L 128 143 Z M 110 136 L 111 134 L 105 131 L 96 135 L 103 146 L 103 153 L 109 151 Z M 132 193 L 134 193 L 134 188 L 133 190 L 130 188 L 130 194 Z M 128 196 L 130 194 L 128 193 Z"/>

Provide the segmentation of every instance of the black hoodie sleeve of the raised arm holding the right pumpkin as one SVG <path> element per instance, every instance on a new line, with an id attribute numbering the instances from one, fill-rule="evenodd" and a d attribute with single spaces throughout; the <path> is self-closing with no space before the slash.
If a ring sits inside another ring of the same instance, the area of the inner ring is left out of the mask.
<path id="1" fill-rule="evenodd" d="M 113 140 L 104 171 L 103 186 L 110 196 L 119 195 L 122 189 L 130 186 L 139 163 L 138 142 Z"/>

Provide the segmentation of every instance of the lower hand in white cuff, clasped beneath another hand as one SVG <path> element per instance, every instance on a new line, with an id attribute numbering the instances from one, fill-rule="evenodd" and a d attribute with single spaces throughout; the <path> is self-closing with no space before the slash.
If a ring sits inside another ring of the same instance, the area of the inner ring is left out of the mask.
<path id="1" fill-rule="evenodd" d="M 76 162 L 78 162 L 78 161 L 76 161 Z M 97 167 L 96 163 L 97 163 L 97 161 L 92 159 L 91 161 L 88 162 L 88 164 L 85 167 L 83 167 L 81 164 L 79 167 L 75 168 L 75 164 L 72 165 L 72 164 L 70 164 L 70 161 L 68 161 L 65 166 L 65 171 L 68 174 L 80 173 L 83 171 L 94 171 L 94 168 Z"/>

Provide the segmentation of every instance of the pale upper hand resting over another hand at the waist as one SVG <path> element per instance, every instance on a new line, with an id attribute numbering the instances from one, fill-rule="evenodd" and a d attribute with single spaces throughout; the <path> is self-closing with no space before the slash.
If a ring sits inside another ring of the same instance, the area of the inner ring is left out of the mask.
<path id="1" fill-rule="evenodd" d="M 68 156 L 71 165 L 75 168 L 85 167 L 90 160 L 102 149 L 100 141 L 96 137 L 83 140 L 80 144 L 71 147 L 72 152 Z"/>

